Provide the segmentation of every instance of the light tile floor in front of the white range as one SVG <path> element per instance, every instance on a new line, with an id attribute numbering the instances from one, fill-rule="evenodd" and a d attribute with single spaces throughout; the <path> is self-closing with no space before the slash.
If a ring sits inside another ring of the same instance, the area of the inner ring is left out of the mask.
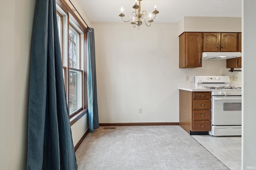
<path id="1" fill-rule="evenodd" d="M 230 170 L 241 170 L 241 137 L 191 136 Z"/>

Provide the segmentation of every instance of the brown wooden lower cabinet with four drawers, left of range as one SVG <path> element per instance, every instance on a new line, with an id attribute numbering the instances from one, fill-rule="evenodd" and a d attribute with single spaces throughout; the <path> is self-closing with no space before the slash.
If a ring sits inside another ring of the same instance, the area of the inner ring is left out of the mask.
<path id="1" fill-rule="evenodd" d="M 211 92 L 179 90 L 180 126 L 191 132 L 211 130 Z"/>

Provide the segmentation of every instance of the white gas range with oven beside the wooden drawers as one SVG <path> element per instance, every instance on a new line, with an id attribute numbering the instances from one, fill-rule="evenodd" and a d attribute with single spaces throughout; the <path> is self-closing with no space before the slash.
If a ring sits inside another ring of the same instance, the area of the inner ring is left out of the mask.
<path id="1" fill-rule="evenodd" d="M 242 88 L 229 76 L 195 76 L 195 87 L 212 89 L 212 136 L 242 135 Z"/>

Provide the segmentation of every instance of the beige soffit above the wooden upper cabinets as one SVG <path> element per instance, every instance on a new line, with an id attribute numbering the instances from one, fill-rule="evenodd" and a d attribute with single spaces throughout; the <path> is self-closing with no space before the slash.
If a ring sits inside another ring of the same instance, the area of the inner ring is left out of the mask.
<path id="1" fill-rule="evenodd" d="M 188 17 L 179 23 L 178 35 L 183 32 L 242 32 L 242 18 Z"/>

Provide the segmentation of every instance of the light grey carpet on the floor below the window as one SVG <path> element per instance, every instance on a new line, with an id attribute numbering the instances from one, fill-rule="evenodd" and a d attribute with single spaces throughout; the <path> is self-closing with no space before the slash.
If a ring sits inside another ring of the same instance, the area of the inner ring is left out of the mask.
<path id="1" fill-rule="evenodd" d="M 117 126 L 89 133 L 79 170 L 228 170 L 180 126 Z"/>

